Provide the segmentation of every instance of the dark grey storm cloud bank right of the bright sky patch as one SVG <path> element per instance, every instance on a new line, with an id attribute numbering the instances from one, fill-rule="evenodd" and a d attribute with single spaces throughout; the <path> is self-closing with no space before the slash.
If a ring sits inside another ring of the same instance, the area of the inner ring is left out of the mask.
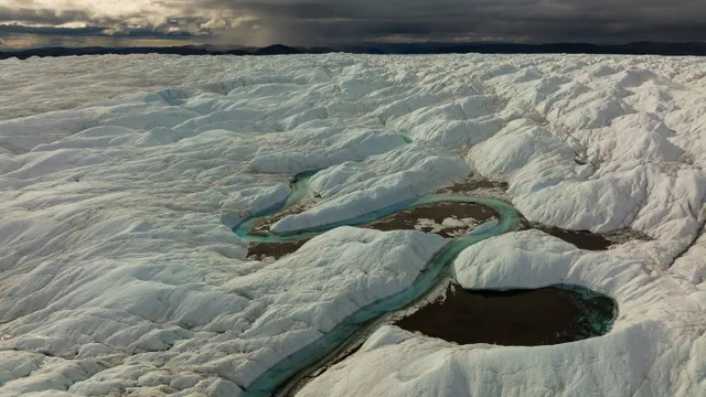
<path id="1" fill-rule="evenodd" d="M 689 0 L 218 1 L 264 20 L 281 40 L 389 35 L 530 42 L 706 40 L 706 7 Z"/>

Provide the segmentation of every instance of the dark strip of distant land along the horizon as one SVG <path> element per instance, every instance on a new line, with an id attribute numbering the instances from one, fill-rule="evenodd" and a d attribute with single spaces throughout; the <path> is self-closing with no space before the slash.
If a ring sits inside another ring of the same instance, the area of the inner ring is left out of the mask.
<path id="1" fill-rule="evenodd" d="M 224 47 L 214 45 L 184 45 L 171 47 L 39 47 L 15 51 L 0 51 L 0 60 L 32 56 L 72 55 L 128 55 L 128 54 L 173 54 L 173 55 L 291 55 L 291 54 L 623 54 L 623 55 L 706 55 L 706 43 L 653 43 L 629 44 L 513 44 L 513 43 L 375 43 L 342 45 L 340 47 L 295 47 L 275 44 L 266 47 Z"/>

